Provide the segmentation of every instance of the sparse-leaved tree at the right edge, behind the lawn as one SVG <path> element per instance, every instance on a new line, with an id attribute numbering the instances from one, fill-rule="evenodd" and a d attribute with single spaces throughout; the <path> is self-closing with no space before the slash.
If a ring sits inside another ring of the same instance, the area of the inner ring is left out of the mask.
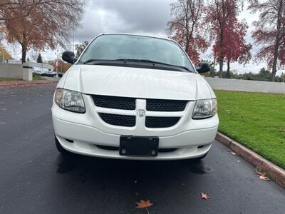
<path id="1" fill-rule="evenodd" d="M 262 45 L 257 59 L 266 61 L 272 68 L 271 81 L 275 81 L 277 68 L 285 65 L 285 1 L 250 0 L 249 9 L 260 12 L 252 32 L 256 44 Z"/>

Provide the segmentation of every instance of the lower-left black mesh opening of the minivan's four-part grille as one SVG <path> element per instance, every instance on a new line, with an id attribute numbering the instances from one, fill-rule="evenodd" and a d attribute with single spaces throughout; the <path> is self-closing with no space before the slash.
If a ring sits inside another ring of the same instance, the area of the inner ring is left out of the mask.
<path id="1" fill-rule="evenodd" d="M 99 116 L 105 123 L 108 123 L 113 126 L 135 126 L 135 116 L 113 113 L 99 113 Z"/>

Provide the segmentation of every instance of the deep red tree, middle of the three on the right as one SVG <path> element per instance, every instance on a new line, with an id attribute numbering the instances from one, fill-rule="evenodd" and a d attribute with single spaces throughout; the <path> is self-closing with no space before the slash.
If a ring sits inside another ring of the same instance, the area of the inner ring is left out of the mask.
<path id="1" fill-rule="evenodd" d="M 215 40 L 214 54 L 219 62 L 220 78 L 222 78 L 224 58 L 228 50 L 227 46 L 230 47 L 233 42 L 229 40 L 229 35 L 234 31 L 232 24 L 237 24 L 237 15 L 239 14 L 239 4 L 241 2 L 242 0 L 210 0 L 209 5 L 206 7 L 205 21 L 210 25 L 211 40 Z M 228 56 L 228 58 L 232 58 L 232 56 Z"/>

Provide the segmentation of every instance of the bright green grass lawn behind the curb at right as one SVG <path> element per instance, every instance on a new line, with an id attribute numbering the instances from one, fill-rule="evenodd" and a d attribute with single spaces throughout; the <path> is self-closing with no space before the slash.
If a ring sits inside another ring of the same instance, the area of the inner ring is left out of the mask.
<path id="1" fill-rule="evenodd" d="M 215 93 L 219 131 L 285 168 L 285 95 Z"/>

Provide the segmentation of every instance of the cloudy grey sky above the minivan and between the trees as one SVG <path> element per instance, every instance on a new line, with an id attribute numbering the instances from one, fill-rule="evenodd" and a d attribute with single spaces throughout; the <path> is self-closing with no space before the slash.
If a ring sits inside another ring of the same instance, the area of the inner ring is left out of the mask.
<path id="1" fill-rule="evenodd" d="M 75 44 L 83 41 L 91 41 L 96 35 L 101 33 L 128 33 L 143 34 L 150 36 L 160 36 L 167 38 L 166 25 L 170 21 L 170 4 L 173 0 L 86 0 L 86 11 L 81 20 L 81 26 L 74 31 Z M 253 43 L 251 32 L 254 29 L 252 22 L 258 19 L 258 14 L 251 14 L 244 5 L 243 11 L 239 14 L 239 19 L 246 19 L 249 29 L 246 41 Z M 73 33 L 71 41 L 67 47 L 73 50 Z M 252 54 L 258 51 L 257 46 L 253 46 Z M 10 46 L 12 56 L 21 58 L 19 46 Z M 58 51 L 64 51 L 58 48 Z M 37 51 L 29 51 L 30 58 L 35 57 Z M 52 60 L 56 57 L 56 51 L 46 50 L 41 52 L 44 60 Z M 203 59 L 211 59 L 211 49 L 201 55 Z M 232 69 L 239 73 L 252 71 L 257 73 L 260 68 L 266 67 L 266 63 L 254 63 L 251 61 L 247 65 L 232 63 Z M 280 72 L 279 72 L 280 73 Z M 277 73 L 277 74 L 279 74 Z"/>

